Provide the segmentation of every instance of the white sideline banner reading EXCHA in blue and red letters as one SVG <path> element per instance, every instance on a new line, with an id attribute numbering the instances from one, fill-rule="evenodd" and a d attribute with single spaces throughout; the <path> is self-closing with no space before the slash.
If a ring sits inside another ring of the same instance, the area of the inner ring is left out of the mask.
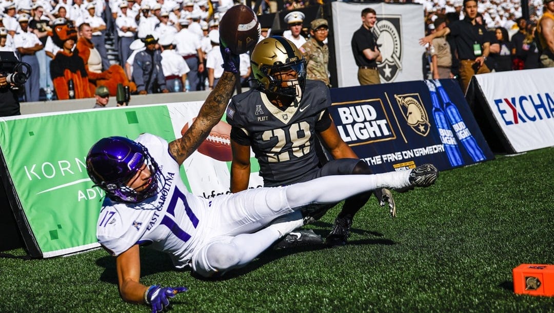
<path id="1" fill-rule="evenodd" d="M 554 146 L 554 68 L 475 75 L 506 140 L 516 152 Z"/>

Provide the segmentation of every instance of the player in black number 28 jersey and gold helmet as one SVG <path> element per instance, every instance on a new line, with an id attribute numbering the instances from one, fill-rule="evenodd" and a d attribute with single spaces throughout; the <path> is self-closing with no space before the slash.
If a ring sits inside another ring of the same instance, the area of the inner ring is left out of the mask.
<path id="1" fill-rule="evenodd" d="M 251 63 L 259 88 L 234 96 L 227 109 L 227 122 L 232 125 L 232 192 L 248 188 L 250 147 L 266 187 L 329 175 L 371 174 L 370 167 L 338 135 L 327 111 L 329 88 L 321 81 L 306 80 L 306 61 L 292 42 L 279 36 L 261 40 Z M 320 160 L 319 142 L 334 160 Z M 396 216 L 391 192 L 384 188 L 373 192 L 381 206 L 388 203 L 391 215 Z M 370 196 L 368 192 L 346 199 L 327 244 L 346 244 L 353 216 Z M 331 207 L 306 208 L 299 225 L 314 222 Z M 285 240 L 295 244 L 302 237 Z"/>

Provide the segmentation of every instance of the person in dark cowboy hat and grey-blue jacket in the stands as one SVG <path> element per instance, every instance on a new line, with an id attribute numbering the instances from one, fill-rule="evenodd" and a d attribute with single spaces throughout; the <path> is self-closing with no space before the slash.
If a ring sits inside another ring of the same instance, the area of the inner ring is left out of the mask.
<path id="1" fill-rule="evenodd" d="M 137 53 L 133 63 L 133 80 L 139 95 L 168 93 L 161 66 L 162 56 L 157 48 L 158 39 L 149 34 L 142 42 L 146 49 Z"/>

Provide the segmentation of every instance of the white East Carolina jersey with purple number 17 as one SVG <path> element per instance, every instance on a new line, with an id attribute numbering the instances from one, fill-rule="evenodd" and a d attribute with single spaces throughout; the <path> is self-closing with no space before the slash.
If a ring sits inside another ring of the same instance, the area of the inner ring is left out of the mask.
<path id="1" fill-rule="evenodd" d="M 187 191 L 179 165 L 168 152 L 163 138 L 142 134 L 137 138 L 160 166 L 161 191 L 140 203 L 122 203 L 105 199 L 96 237 L 102 247 L 119 255 L 135 244 L 168 253 L 173 264 L 182 267 L 191 259 L 194 247 L 201 242 L 198 225 L 208 206 L 207 201 Z"/>

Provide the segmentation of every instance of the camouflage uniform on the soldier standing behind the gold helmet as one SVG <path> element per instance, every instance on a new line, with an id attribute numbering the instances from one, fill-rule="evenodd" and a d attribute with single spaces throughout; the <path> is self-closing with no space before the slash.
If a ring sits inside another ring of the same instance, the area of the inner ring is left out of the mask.
<path id="1" fill-rule="evenodd" d="M 327 64 L 329 64 L 329 47 L 320 45 L 317 40 L 310 38 L 300 47 L 300 51 L 307 62 L 307 79 L 321 80 L 330 86 Z"/>

